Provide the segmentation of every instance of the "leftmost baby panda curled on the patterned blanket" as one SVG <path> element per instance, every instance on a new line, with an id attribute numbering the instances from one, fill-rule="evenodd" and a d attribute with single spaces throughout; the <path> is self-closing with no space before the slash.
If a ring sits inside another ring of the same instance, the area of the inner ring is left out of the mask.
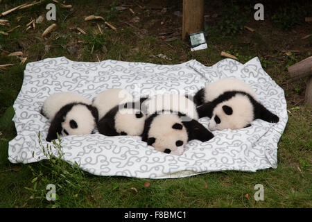
<path id="1" fill-rule="evenodd" d="M 89 99 L 76 92 L 57 92 L 43 103 L 41 114 L 51 120 L 47 142 L 59 135 L 91 134 L 98 121 L 98 111 Z"/>

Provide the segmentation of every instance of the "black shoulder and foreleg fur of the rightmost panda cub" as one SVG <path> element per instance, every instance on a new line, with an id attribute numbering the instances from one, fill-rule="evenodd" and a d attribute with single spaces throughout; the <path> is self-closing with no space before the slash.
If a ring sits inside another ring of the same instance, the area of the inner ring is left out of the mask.
<path id="1" fill-rule="evenodd" d="M 216 108 L 216 105 L 224 101 L 228 101 L 236 94 L 243 94 L 245 96 L 248 96 L 248 99 L 250 100 L 250 103 L 252 103 L 252 106 L 254 108 L 254 119 L 262 119 L 270 123 L 277 123 L 279 121 L 279 117 L 277 117 L 277 115 L 267 110 L 263 105 L 261 105 L 261 103 L 259 103 L 252 96 L 250 96 L 250 94 L 241 91 L 225 92 L 220 96 L 218 96 L 218 98 L 214 99 L 214 101 L 201 105 L 200 107 L 197 108 L 199 117 L 211 118 L 212 112 L 214 108 Z"/>

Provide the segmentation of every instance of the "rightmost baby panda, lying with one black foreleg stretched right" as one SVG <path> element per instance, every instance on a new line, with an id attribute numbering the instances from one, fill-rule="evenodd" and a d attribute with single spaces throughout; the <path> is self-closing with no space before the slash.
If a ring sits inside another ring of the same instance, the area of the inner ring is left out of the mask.
<path id="1" fill-rule="evenodd" d="M 194 96 L 199 117 L 209 117 L 209 130 L 240 129 L 254 119 L 277 123 L 279 117 L 257 102 L 253 89 L 237 78 L 223 78 Z"/>

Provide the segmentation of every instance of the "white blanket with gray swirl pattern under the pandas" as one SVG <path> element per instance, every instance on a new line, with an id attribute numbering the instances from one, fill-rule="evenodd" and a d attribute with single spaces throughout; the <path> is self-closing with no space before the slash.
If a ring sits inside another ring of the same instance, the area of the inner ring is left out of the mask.
<path id="1" fill-rule="evenodd" d="M 64 160 L 100 176 L 137 178 L 178 178 L 209 171 L 256 171 L 277 167 L 277 142 L 288 121 L 284 90 L 266 74 L 258 58 L 242 65 L 225 59 L 211 67 L 196 60 L 180 65 L 155 65 L 144 62 L 73 62 L 49 58 L 30 62 L 24 82 L 13 105 L 17 137 L 9 143 L 13 163 L 37 162 L 46 158 L 38 142 L 46 146 L 49 121 L 40 114 L 47 96 L 75 91 L 88 99 L 105 89 L 121 87 L 137 98 L 155 94 L 195 94 L 205 83 L 235 76 L 250 84 L 258 100 L 279 116 L 279 123 L 255 120 L 241 130 L 214 131 L 208 142 L 193 140 L 182 156 L 168 155 L 147 146 L 140 137 L 73 135 L 62 137 Z M 200 122 L 207 126 L 208 119 Z M 54 153 L 57 155 L 57 153 Z"/>

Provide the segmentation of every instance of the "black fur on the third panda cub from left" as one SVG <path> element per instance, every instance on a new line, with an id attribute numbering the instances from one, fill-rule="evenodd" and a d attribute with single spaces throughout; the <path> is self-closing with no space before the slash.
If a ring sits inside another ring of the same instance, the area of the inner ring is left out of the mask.
<path id="1" fill-rule="evenodd" d="M 162 110 L 163 112 L 165 110 Z M 181 112 L 173 112 L 172 110 L 169 110 L 170 112 L 177 114 L 180 118 L 186 117 L 186 114 L 182 114 Z M 150 131 L 150 125 L 153 123 L 153 120 L 155 117 L 157 117 L 159 113 L 151 114 L 150 117 L 148 117 L 145 121 L 144 131 L 141 135 L 142 141 L 148 142 L 148 134 Z M 214 135 L 207 130 L 202 124 L 200 124 L 195 119 L 191 119 L 190 121 L 182 121 L 182 124 L 187 128 L 187 135 L 188 135 L 188 141 L 192 139 L 199 139 L 201 142 L 206 142 L 209 139 L 212 139 Z M 155 138 L 154 138 L 155 139 Z M 157 138 L 156 138 L 157 139 Z M 181 145 L 182 146 L 182 145 Z"/>

